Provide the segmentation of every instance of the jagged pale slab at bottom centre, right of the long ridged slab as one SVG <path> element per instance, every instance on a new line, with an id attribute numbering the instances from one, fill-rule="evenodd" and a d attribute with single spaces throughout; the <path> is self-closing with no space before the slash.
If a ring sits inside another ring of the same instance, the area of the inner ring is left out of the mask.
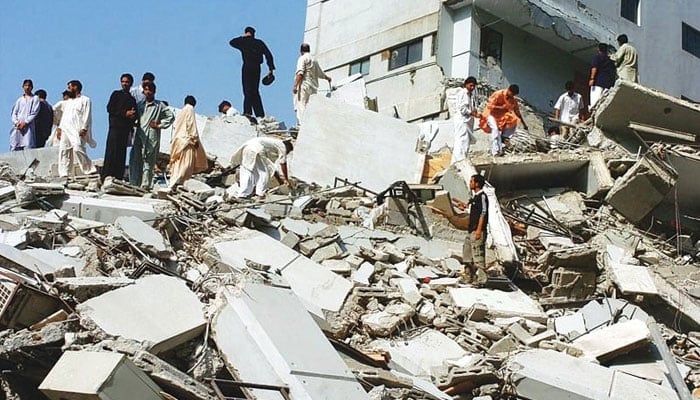
<path id="1" fill-rule="evenodd" d="M 423 378 L 438 378 L 440 373 L 437 370 L 449 361 L 460 360 L 460 364 L 468 364 L 479 357 L 470 355 L 457 342 L 433 329 L 399 342 L 378 339 L 371 342 L 369 348 L 388 352 L 392 369 Z"/>

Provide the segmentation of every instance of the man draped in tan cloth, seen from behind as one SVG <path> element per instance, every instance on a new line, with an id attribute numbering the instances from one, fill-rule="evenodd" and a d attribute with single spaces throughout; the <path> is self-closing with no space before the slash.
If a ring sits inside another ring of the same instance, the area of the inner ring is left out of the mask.
<path id="1" fill-rule="evenodd" d="M 207 154 L 199 140 L 194 107 L 185 104 L 175 117 L 170 145 L 170 186 L 181 184 L 208 167 Z"/>

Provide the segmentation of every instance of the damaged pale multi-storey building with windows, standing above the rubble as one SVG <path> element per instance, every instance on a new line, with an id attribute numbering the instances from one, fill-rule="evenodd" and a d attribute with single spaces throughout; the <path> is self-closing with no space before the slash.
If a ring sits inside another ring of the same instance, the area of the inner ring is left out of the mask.
<path id="1" fill-rule="evenodd" d="M 379 112 L 444 117 L 443 80 L 512 83 L 549 112 L 564 83 L 587 98 L 599 42 L 625 33 L 643 85 L 700 101 L 697 0 L 308 0 L 304 40 L 335 81 L 361 73 Z"/>

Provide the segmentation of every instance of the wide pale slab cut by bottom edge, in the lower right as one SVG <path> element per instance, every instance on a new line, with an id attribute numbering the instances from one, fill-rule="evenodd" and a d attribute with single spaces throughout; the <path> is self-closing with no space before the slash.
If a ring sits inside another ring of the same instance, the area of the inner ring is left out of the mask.
<path id="1" fill-rule="evenodd" d="M 508 360 L 503 371 L 515 394 L 524 399 L 677 399 L 671 389 L 553 350 L 518 353 Z M 629 397 L 620 391 L 622 387 L 616 387 L 619 384 L 634 393 L 646 392 Z"/>

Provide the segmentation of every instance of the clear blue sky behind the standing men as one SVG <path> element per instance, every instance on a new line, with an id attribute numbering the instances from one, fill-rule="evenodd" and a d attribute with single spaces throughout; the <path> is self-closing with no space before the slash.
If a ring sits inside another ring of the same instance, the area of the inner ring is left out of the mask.
<path id="1" fill-rule="evenodd" d="M 66 82 L 78 79 L 93 103 L 90 156 L 104 155 L 106 105 L 124 72 L 140 82 L 156 75 L 157 95 L 180 107 L 197 98 L 197 112 L 217 114 L 228 99 L 243 108 L 240 53 L 228 41 L 250 25 L 275 58 L 277 79 L 261 85 L 265 112 L 295 125 L 294 67 L 304 36 L 306 0 L 4 0 L 0 13 L 0 151 L 8 149 L 12 104 L 22 81 L 45 89 L 52 104 Z M 263 74 L 267 67 L 263 65 Z M 2 123 L 4 122 L 4 124 Z M 5 126 L 4 131 L 2 126 Z"/>

